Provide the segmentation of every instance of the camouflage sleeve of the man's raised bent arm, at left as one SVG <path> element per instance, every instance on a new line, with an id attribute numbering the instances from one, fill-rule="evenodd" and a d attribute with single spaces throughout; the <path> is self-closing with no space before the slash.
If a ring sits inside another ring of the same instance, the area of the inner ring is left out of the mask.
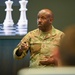
<path id="1" fill-rule="evenodd" d="M 26 44 L 28 44 L 28 49 L 27 50 L 23 50 L 23 52 L 22 52 L 21 55 L 17 55 L 17 51 L 20 49 L 21 43 L 24 43 L 24 42 Z M 23 39 L 20 41 L 20 43 L 17 45 L 17 47 L 14 49 L 14 51 L 13 51 L 13 57 L 15 59 L 22 59 L 22 58 L 24 58 L 26 56 L 26 54 L 27 54 L 27 51 L 29 50 L 29 43 L 30 43 L 30 33 L 28 33 L 27 35 L 25 35 L 23 37 Z"/>

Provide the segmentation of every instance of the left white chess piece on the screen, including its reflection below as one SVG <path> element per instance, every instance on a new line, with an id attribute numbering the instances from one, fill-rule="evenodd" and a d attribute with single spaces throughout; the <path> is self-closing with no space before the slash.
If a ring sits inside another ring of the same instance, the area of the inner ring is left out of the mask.
<path id="1" fill-rule="evenodd" d="M 5 4 L 6 4 L 6 9 L 5 9 L 6 17 L 3 22 L 3 29 L 5 35 L 12 35 L 12 33 L 14 33 L 14 28 L 13 28 L 14 22 L 12 20 L 12 13 L 11 13 L 13 11 L 13 9 L 11 8 L 13 1 L 10 0 L 5 1 Z"/>

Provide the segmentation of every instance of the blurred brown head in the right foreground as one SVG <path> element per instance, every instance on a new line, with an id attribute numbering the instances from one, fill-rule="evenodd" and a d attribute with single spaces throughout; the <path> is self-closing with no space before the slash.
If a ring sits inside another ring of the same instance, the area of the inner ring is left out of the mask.
<path id="1" fill-rule="evenodd" d="M 59 47 L 61 65 L 75 66 L 75 25 L 69 26 L 64 33 Z"/>

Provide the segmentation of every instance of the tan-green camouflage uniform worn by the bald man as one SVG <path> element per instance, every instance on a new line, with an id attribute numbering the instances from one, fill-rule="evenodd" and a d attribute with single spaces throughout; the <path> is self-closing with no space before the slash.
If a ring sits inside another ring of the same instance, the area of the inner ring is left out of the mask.
<path id="1" fill-rule="evenodd" d="M 55 29 L 49 32 L 42 32 L 38 28 L 29 32 L 14 50 L 14 57 L 21 59 L 27 54 L 27 50 L 23 50 L 21 56 L 16 55 L 16 51 L 20 48 L 21 43 L 26 42 L 29 46 L 30 54 L 30 67 L 46 66 L 40 65 L 39 61 L 44 59 L 44 56 L 50 56 L 53 49 L 59 45 L 59 40 L 64 33 Z"/>

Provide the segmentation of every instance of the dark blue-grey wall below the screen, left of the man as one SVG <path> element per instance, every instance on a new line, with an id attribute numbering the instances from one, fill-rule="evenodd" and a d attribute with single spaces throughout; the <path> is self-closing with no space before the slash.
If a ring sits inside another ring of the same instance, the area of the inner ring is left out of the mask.
<path id="1" fill-rule="evenodd" d="M 13 58 L 13 50 L 19 41 L 19 38 L 0 37 L 0 75 L 17 75 L 19 69 L 29 66 L 29 53 L 22 60 Z"/>

